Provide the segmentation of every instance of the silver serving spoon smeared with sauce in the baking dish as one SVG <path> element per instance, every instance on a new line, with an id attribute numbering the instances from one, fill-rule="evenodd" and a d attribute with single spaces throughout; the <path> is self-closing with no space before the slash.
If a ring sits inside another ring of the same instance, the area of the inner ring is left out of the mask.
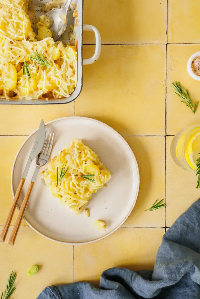
<path id="1" fill-rule="evenodd" d="M 67 0 L 61 8 L 52 9 L 46 13 L 47 18 L 53 21 L 53 25 L 49 28 L 54 32 L 53 39 L 56 41 L 67 27 L 67 12 L 72 0 Z"/>

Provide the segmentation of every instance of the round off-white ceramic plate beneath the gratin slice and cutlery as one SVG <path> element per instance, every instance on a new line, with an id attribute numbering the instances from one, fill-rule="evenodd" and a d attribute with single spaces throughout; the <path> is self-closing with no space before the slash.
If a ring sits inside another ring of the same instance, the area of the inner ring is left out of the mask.
<path id="1" fill-rule="evenodd" d="M 54 198 L 38 175 L 25 212 L 25 221 L 44 237 L 67 244 L 83 244 L 107 237 L 124 223 L 138 196 L 139 169 L 131 148 L 114 129 L 91 118 L 60 118 L 47 123 L 46 128 L 55 132 L 50 158 L 70 144 L 71 139 L 82 139 L 112 172 L 112 179 L 108 182 L 107 188 L 102 188 L 92 196 L 88 204 L 90 217 L 86 218 L 84 214 L 74 215 L 60 203 L 59 199 Z M 11 175 L 13 196 L 30 154 L 35 134 L 36 131 L 28 136 L 15 157 Z M 34 167 L 33 161 L 19 198 L 19 207 Z M 41 171 L 44 168 L 45 166 L 41 167 Z M 106 231 L 97 231 L 92 226 L 98 219 L 106 222 Z"/>

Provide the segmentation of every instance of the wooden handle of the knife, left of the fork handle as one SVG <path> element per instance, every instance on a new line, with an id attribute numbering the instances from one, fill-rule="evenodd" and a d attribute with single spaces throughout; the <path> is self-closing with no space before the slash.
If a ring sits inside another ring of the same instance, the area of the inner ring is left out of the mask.
<path id="1" fill-rule="evenodd" d="M 7 231 L 8 231 L 8 228 L 10 226 L 10 222 L 13 218 L 13 214 L 14 214 L 14 211 L 16 209 L 16 205 L 17 205 L 17 202 L 18 202 L 18 199 L 19 199 L 19 196 L 20 196 L 20 193 L 22 191 L 22 187 L 24 185 L 24 182 L 25 182 L 25 179 L 21 179 L 20 183 L 19 183 L 19 186 L 17 188 L 17 191 L 15 193 L 15 196 L 14 196 L 14 199 L 13 199 L 13 202 L 12 202 L 12 205 L 10 207 L 10 210 L 7 214 L 7 218 L 5 220 L 5 223 L 4 223 L 4 226 L 3 226 L 3 229 L 1 231 L 1 234 L 0 234 L 0 242 L 4 242 L 5 241 L 5 238 L 6 238 L 6 235 L 7 235 Z"/>

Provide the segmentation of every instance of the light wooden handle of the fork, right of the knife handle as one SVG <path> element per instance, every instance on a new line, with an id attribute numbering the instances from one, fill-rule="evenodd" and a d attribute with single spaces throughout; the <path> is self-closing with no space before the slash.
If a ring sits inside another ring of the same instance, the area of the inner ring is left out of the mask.
<path id="1" fill-rule="evenodd" d="M 22 202 L 21 208 L 19 210 L 19 214 L 18 214 L 17 219 L 15 221 L 15 224 L 13 226 L 13 230 L 11 232 L 10 238 L 7 242 L 9 245 L 14 245 L 17 233 L 19 231 L 19 228 L 20 228 L 20 225 L 21 225 L 21 222 L 22 222 L 25 210 L 26 210 L 26 206 L 28 204 L 28 199 L 29 199 L 29 197 L 31 195 L 31 191 L 33 189 L 33 185 L 34 185 L 34 182 L 31 181 L 29 186 L 28 186 L 28 190 L 26 192 L 25 198 Z"/>

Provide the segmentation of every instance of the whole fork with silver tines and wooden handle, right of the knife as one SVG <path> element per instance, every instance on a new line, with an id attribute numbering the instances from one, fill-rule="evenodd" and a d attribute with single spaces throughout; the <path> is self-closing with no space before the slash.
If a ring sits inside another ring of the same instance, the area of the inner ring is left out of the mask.
<path id="1" fill-rule="evenodd" d="M 39 171 L 40 167 L 45 165 L 46 162 L 49 160 L 49 156 L 50 156 L 52 146 L 53 146 L 54 133 L 47 131 L 45 139 L 46 140 L 44 143 L 44 147 L 43 147 L 42 151 L 39 153 L 39 155 L 37 155 L 37 157 L 36 157 L 36 167 L 35 167 L 34 174 L 32 176 L 31 182 L 28 186 L 28 190 L 26 192 L 25 198 L 24 198 L 21 208 L 19 210 L 19 214 L 18 214 L 15 224 L 13 226 L 13 230 L 10 234 L 10 238 L 7 242 L 7 244 L 9 244 L 9 245 L 14 245 L 17 233 L 19 231 L 19 228 L 20 228 L 20 225 L 21 225 L 21 222 L 22 222 L 22 219 L 23 219 L 23 216 L 24 216 L 27 204 L 28 204 L 28 199 L 31 195 L 31 191 L 33 189 L 34 182 L 37 178 L 38 171 Z"/>

